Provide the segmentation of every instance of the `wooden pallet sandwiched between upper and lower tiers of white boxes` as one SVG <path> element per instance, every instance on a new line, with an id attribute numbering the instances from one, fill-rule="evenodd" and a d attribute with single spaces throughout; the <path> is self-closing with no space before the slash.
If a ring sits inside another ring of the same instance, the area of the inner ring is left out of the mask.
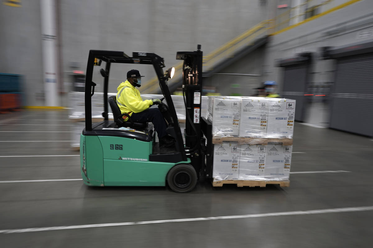
<path id="1" fill-rule="evenodd" d="M 282 144 L 282 145 L 292 145 L 293 139 L 291 138 L 245 138 L 245 137 L 213 137 L 212 144 L 222 144 L 224 141 L 237 142 L 238 144 L 260 144 L 267 145 L 268 143 Z"/>

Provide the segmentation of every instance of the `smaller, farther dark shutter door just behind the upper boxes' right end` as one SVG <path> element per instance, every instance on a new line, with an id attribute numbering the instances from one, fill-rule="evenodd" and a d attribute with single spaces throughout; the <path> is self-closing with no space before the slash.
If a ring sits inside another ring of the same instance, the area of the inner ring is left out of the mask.
<path id="1" fill-rule="evenodd" d="M 283 73 L 281 97 L 294 99 L 295 120 L 304 121 L 304 92 L 307 84 L 307 63 L 286 66 Z"/>

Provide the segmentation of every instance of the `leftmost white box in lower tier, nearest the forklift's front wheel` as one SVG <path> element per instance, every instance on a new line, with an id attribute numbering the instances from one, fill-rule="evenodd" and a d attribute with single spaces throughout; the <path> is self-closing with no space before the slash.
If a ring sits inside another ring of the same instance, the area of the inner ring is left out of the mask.
<path id="1" fill-rule="evenodd" d="M 214 145 L 213 178 L 214 180 L 238 179 L 239 145 L 223 142 Z"/>

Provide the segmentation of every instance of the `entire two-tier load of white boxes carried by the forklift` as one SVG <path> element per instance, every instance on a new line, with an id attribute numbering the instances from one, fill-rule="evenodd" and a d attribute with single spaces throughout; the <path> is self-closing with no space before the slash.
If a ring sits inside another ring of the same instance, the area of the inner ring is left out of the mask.
<path id="1" fill-rule="evenodd" d="M 214 181 L 289 180 L 294 114 L 295 100 L 209 97 Z"/>

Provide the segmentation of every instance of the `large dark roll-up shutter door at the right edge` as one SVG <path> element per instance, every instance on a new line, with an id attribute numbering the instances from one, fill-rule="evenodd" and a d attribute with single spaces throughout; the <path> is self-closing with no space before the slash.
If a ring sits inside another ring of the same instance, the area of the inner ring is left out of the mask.
<path id="1" fill-rule="evenodd" d="M 373 136 L 373 54 L 337 59 L 330 128 Z"/>

